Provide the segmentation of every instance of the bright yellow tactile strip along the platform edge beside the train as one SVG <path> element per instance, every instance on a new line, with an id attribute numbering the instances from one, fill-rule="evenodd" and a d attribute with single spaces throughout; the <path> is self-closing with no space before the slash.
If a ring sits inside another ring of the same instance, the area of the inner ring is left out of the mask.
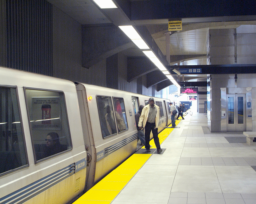
<path id="1" fill-rule="evenodd" d="M 178 125 L 179 122 L 176 121 L 175 124 Z M 171 125 L 168 127 L 171 127 Z M 158 134 L 160 144 L 164 142 L 172 130 L 173 128 L 165 128 Z M 152 148 L 156 148 L 154 140 L 150 141 L 150 145 L 152 145 Z M 78 198 L 74 204 L 110 204 L 151 156 L 152 154 L 133 154 Z"/>

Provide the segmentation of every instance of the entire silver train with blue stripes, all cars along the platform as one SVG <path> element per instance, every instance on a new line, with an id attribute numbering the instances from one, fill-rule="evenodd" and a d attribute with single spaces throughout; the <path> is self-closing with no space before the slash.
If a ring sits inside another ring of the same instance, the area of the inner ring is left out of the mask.
<path id="1" fill-rule="evenodd" d="M 136 151 L 134 115 L 148 96 L 0 73 L 0 204 L 72 203 Z M 171 123 L 169 102 L 155 98 L 159 132 Z"/>

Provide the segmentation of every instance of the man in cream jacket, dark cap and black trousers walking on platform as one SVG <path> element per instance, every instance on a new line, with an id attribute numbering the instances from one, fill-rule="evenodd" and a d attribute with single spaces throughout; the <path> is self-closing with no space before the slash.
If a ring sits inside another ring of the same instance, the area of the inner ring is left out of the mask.
<path id="1" fill-rule="evenodd" d="M 150 152 L 150 132 L 152 130 L 154 142 L 156 144 L 157 153 L 160 154 L 163 150 L 160 147 L 159 138 L 158 138 L 158 123 L 160 116 L 160 108 L 155 105 L 154 98 L 150 97 L 148 100 L 149 104 L 142 109 L 140 120 L 138 123 L 139 128 L 145 127 L 145 148 L 147 152 Z"/>

